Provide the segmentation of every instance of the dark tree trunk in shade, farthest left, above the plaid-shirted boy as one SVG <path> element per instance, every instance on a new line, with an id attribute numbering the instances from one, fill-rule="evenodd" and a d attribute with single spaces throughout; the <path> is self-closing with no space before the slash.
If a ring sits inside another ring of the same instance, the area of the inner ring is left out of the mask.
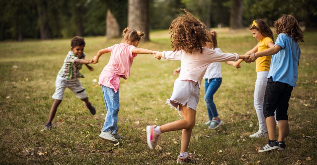
<path id="1" fill-rule="evenodd" d="M 47 12 L 47 2 L 38 0 L 37 2 L 37 12 L 39 15 L 39 26 L 41 39 L 51 38 L 51 30 L 49 29 L 49 19 Z"/>

